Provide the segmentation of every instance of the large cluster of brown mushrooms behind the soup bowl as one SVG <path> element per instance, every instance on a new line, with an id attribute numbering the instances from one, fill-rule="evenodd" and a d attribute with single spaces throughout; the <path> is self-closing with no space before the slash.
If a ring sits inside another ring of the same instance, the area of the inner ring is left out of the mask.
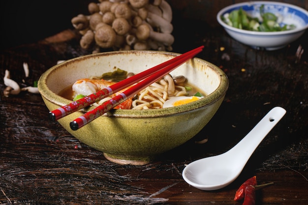
<path id="1" fill-rule="evenodd" d="M 172 9 L 165 0 L 99 0 L 90 15 L 71 19 L 82 35 L 80 46 L 92 53 L 113 50 L 172 51 Z"/>

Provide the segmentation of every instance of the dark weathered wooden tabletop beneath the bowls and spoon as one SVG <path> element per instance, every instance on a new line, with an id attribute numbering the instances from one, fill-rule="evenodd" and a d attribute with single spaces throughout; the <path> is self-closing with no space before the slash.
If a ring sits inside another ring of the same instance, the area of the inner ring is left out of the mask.
<path id="1" fill-rule="evenodd" d="M 88 54 L 79 48 L 74 30 L 1 50 L 0 204 L 240 205 L 233 201 L 235 191 L 251 176 L 259 184 L 274 182 L 257 191 L 257 205 L 308 204 L 308 32 L 281 50 L 264 51 L 203 22 L 184 20 L 174 28 L 173 51 L 205 45 L 198 57 L 221 67 L 230 87 L 215 117 L 196 137 L 143 166 L 114 164 L 79 142 L 48 120 L 39 94 L 4 97 L 5 69 L 25 87 L 58 60 Z M 296 54 L 299 45 L 301 57 Z M 28 78 L 23 62 L 29 64 Z M 286 116 L 232 184 L 201 191 L 183 180 L 186 164 L 230 149 L 275 106 L 285 108 Z M 207 143 L 195 143 L 205 138 Z"/>

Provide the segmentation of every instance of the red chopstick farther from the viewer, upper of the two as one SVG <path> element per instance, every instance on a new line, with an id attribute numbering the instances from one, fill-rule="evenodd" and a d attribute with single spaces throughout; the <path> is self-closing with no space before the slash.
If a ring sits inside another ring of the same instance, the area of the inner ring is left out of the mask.
<path id="1" fill-rule="evenodd" d="M 148 70 L 145 70 L 141 73 L 138 73 L 130 78 L 124 79 L 110 87 L 107 88 L 103 88 L 99 91 L 97 91 L 96 93 L 92 93 L 86 97 L 83 97 L 79 100 L 76 100 L 68 105 L 64 105 L 61 108 L 58 108 L 54 111 L 49 112 L 49 118 L 53 121 L 56 121 L 62 117 L 65 117 L 73 112 L 76 112 L 80 109 L 83 109 L 85 107 L 88 107 L 89 105 L 92 105 L 93 103 L 108 97 L 110 95 L 112 95 L 113 93 L 116 93 L 120 90 L 122 90 L 123 88 L 126 88 L 128 86 L 131 86 L 147 77 L 149 77 L 150 75 L 152 75 L 153 73 L 161 70 L 162 68 L 166 67 L 167 65 L 176 62 L 177 60 L 184 58 L 187 55 L 190 55 L 192 53 L 194 53 L 195 51 L 202 51 L 202 49 L 204 48 L 204 46 L 200 46 L 198 48 L 195 48 L 191 51 L 188 51 L 178 57 L 175 57 L 173 59 L 167 60 L 161 64 L 158 64 Z"/>

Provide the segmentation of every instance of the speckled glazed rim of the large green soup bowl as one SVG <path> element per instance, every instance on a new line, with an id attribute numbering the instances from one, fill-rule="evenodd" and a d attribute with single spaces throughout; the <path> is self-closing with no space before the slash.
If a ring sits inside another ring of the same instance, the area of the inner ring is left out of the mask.
<path id="1" fill-rule="evenodd" d="M 176 56 L 179 56 L 180 54 L 178 53 L 172 53 L 172 52 L 165 52 L 165 51 L 111 51 L 111 52 L 104 52 L 104 53 L 97 53 L 97 54 L 90 54 L 86 56 L 81 56 L 77 57 L 74 59 L 68 59 L 65 60 L 62 63 L 59 63 L 48 70 L 46 70 L 40 77 L 38 81 L 38 88 L 42 96 L 44 96 L 47 100 L 51 101 L 52 103 L 55 103 L 57 105 L 64 106 L 69 103 L 71 103 L 71 100 L 68 100 L 62 96 L 60 96 L 58 93 L 55 93 L 52 91 L 47 83 L 47 79 L 52 75 L 53 73 L 57 72 L 59 69 L 61 69 L 63 66 L 70 66 L 73 65 L 74 63 L 78 63 L 78 61 L 83 61 L 86 59 L 91 59 L 91 58 L 99 58 L 99 57 L 106 57 L 109 55 L 138 55 L 138 54 L 158 54 L 158 55 L 166 55 L 167 57 L 174 58 Z M 149 110 L 111 110 L 108 112 L 109 114 L 105 115 L 112 115 L 113 117 L 161 117 L 161 116 L 168 116 L 168 115 L 173 115 L 173 114 L 178 114 L 178 113 L 183 113 L 191 110 L 195 110 L 201 107 L 208 106 L 210 104 L 215 103 L 217 100 L 219 100 L 221 97 L 224 97 L 228 86 L 229 86 L 229 81 L 226 76 L 226 74 L 218 68 L 216 65 L 213 63 L 210 63 L 206 60 L 199 59 L 199 58 L 194 58 L 188 60 L 186 63 L 204 63 L 207 66 L 210 66 L 212 70 L 214 70 L 219 77 L 219 85 L 217 88 L 206 95 L 204 98 L 185 104 L 185 105 L 180 105 L 176 107 L 170 107 L 170 108 L 160 108 L 160 109 L 149 109 Z M 193 65 L 192 65 L 193 66 Z M 125 70 L 125 69 L 124 69 Z M 129 71 L 128 71 L 129 72 Z M 82 112 L 82 111 L 78 111 Z"/>

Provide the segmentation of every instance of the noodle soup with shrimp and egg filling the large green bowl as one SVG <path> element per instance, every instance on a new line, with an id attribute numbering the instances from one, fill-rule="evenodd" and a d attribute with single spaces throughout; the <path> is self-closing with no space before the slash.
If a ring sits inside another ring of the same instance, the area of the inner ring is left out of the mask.
<path id="1" fill-rule="evenodd" d="M 100 77 L 80 79 L 76 81 L 72 87 L 63 91 L 61 95 L 71 100 L 77 100 L 78 98 L 90 95 L 115 83 L 116 82 L 111 80 L 100 79 Z M 128 88 L 124 88 L 123 90 L 92 104 L 92 106 L 98 106 Z M 196 88 L 188 84 L 187 79 L 184 76 L 173 78 L 170 74 L 167 74 L 149 87 L 138 92 L 135 96 L 125 100 L 123 103 L 115 107 L 115 109 L 159 109 L 163 107 L 163 104 L 168 99 L 178 96 L 192 96 L 195 93 L 199 92 Z"/>

